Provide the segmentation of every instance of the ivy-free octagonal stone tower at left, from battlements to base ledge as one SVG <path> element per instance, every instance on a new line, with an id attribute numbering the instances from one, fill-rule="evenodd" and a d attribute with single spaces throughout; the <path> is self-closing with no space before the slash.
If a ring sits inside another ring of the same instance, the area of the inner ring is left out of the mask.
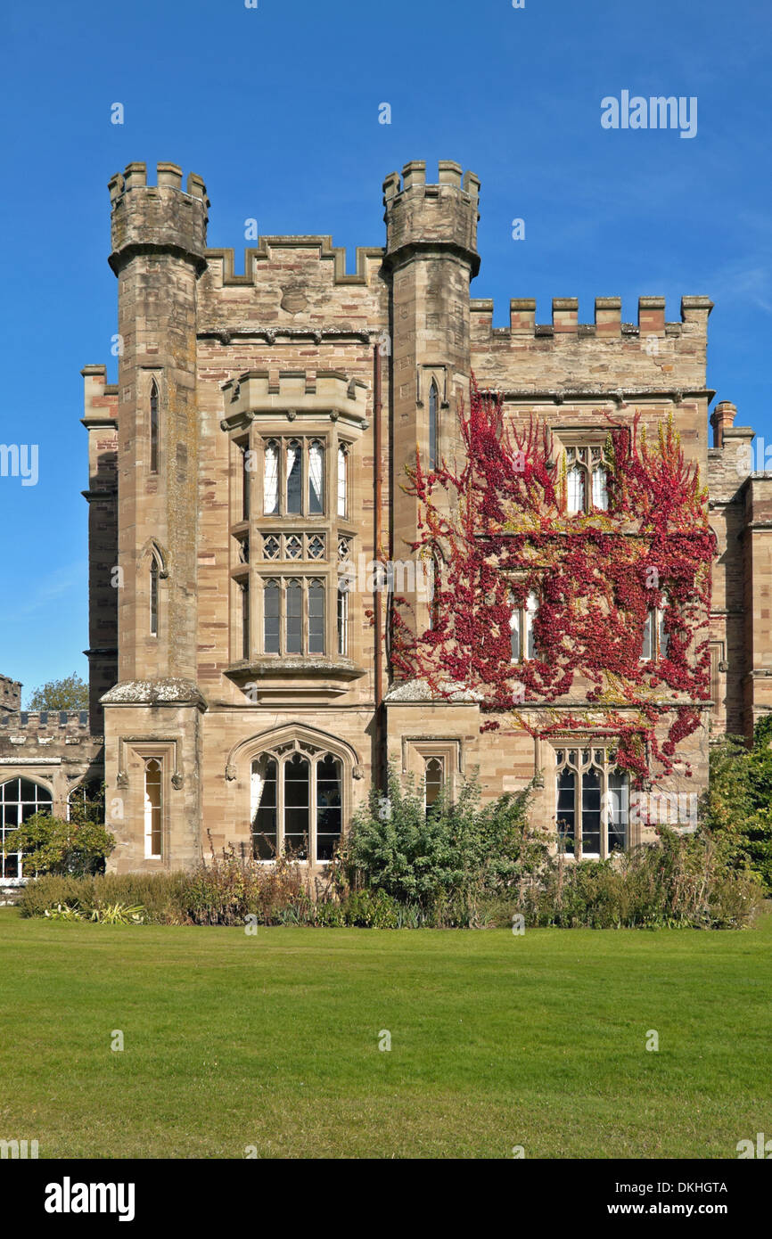
<path id="1" fill-rule="evenodd" d="M 109 183 L 119 281 L 118 678 L 196 679 L 197 279 L 208 199 L 176 164 Z"/>

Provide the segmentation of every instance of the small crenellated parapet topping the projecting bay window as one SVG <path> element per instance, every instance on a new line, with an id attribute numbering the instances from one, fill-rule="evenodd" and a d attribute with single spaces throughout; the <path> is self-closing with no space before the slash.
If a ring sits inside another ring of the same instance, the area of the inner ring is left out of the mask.
<path id="1" fill-rule="evenodd" d="M 222 385 L 223 430 L 258 418 L 338 418 L 367 430 L 368 387 L 341 370 L 247 370 Z"/>

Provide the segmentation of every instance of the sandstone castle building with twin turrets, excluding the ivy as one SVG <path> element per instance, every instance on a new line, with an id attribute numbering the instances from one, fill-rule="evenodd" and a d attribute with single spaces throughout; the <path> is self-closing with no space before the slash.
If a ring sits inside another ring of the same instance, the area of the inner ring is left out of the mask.
<path id="1" fill-rule="evenodd" d="M 654 437 L 672 416 L 708 479 L 711 696 L 694 703 L 701 724 L 683 746 L 691 778 L 677 768 L 659 783 L 701 790 L 711 729 L 750 736 L 772 707 L 772 477 L 752 471 L 734 405 L 709 414 L 710 300 L 683 297 L 668 322 L 664 299 L 641 297 L 632 325 L 602 297 L 581 325 L 561 297 L 538 325 L 535 302 L 517 299 L 493 327 L 492 302 L 470 297 L 480 182 L 450 161 L 436 183 L 420 161 L 387 178 L 385 245 L 358 249 L 354 273 L 330 237 L 302 235 L 260 238 L 238 274 L 233 250 L 207 248 L 203 181 L 183 188 L 173 164 L 155 186 L 130 164 L 109 188 L 118 384 L 104 366 L 82 372 L 88 733 L 73 764 L 72 720 L 9 714 L 0 777 L 61 809 L 103 761 L 119 871 L 185 867 L 230 844 L 261 859 L 291 846 L 321 866 L 387 763 L 424 779 L 428 800 L 476 768 L 486 797 L 538 776 L 534 813 L 554 824 L 561 798 L 584 855 L 642 838 L 608 738 L 566 725 L 548 743 L 507 717 L 481 732 L 463 685 L 437 699 L 392 674 L 371 567 L 379 553 L 410 563 L 405 470 L 416 445 L 457 457 L 473 374 L 513 422 L 545 419 L 574 460 L 594 458 L 606 413 L 639 414 Z M 341 564 L 356 565 L 348 590 Z M 404 592 L 425 626 L 420 574 Z M 591 719 L 581 688 L 553 709 Z"/>

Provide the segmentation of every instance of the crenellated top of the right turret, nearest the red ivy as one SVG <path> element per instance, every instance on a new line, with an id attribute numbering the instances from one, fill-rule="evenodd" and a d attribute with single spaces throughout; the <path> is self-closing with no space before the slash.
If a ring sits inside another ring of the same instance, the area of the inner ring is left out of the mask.
<path id="1" fill-rule="evenodd" d="M 426 183 L 426 164 L 413 160 L 383 182 L 388 266 L 399 265 L 416 252 L 445 249 L 457 253 L 480 270 L 477 221 L 480 178 L 460 164 L 440 160 L 437 181 Z"/>

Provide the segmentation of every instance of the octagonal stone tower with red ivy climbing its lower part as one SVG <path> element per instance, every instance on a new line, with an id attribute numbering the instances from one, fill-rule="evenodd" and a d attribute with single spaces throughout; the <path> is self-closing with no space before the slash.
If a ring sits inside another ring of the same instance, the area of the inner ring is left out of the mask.
<path id="1" fill-rule="evenodd" d="M 405 468 L 460 453 L 457 413 L 468 401 L 470 281 L 477 274 L 480 181 L 440 160 L 436 185 L 426 183 L 423 160 L 405 164 L 401 181 L 383 185 L 387 249 L 384 269 L 392 306 L 392 554 L 410 559 L 418 529 L 416 501 L 404 492 Z M 421 593 L 424 591 L 420 591 Z M 425 627 L 423 597 L 404 596 Z"/>

